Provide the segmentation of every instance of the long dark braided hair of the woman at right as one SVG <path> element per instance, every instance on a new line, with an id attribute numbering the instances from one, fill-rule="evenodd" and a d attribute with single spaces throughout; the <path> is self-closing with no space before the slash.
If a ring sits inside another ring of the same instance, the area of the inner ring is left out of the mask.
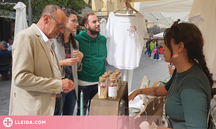
<path id="1" fill-rule="evenodd" d="M 180 42 L 184 43 L 184 47 L 187 50 L 189 62 L 197 62 L 201 69 L 204 71 L 206 76 L 208 77 L 210 87 L 212 89 L 213 79 L 212 74 L 210 73 L 206 61 L 205 56 L 203 54 L 203 37 L 200 30 L 191 23 L 180 23 L 174 22 L 171 28 L 168 28 L 164 31 L 164 43 L 171 51 L 171 57 L 173 55 L 173 50 L 171 47 L 171 38 L 174 39 L 175 44 L 179 44 Z M 212 97 L 213 97 L 212 91 Z"/>

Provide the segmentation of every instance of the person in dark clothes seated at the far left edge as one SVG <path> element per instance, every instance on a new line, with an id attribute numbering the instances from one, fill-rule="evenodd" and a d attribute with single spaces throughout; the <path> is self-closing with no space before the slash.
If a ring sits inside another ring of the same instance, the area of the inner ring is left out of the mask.
<path id="1" fill-rule="evenodd" d="M 3 61 L 8 62 L 8 61 L 11 61 L 12 59 L 11 51 L 8 51 L 7 47 L 8 46 L 7 46 L 6 41 L 0 42 L 0 62 L 3 62 Z M 8 72 L 9 72 L 9 68 L 11 68 L 11 63 L 0 65 L 0 68 L 4 69 L 4 70 L 0 70 L 2 80 L 10 79 Z"/>

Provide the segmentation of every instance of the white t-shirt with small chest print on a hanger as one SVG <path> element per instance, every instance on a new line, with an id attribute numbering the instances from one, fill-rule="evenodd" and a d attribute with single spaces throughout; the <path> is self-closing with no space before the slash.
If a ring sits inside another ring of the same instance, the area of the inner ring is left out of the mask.
<path id="1" fill-rule="evenodd" d="M 118 69 L 137 68 L 146 32 L 145 18 L 142 14 L 132 17 L 111 12 L 106 26 L 107 62 Z"/>

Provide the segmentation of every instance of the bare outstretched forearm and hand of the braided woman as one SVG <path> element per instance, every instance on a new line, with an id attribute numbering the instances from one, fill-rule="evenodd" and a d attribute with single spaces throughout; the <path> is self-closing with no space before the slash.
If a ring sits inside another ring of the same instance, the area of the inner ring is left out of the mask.
<path id="1" fill-rule="evenodd" d="M 156 86 L 151 88 L 138 89 L 132 92 L 128 96 L 128 101 L 133 100 L 139 94 L 151 95 L 151 96 L 166 96 L 167 90 L 165 89 L 165 86 Z"/>

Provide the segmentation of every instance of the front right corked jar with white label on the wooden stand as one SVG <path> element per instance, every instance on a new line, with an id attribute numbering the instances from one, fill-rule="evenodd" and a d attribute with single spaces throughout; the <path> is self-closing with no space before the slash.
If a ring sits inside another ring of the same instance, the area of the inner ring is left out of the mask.
<path id="1" fill-rule="evenodd" d="M 117 98 L 117 82 L 115 78 L 110 78 L 110 85 L 108 87 L 108 98 L 109 99 Z"/>

